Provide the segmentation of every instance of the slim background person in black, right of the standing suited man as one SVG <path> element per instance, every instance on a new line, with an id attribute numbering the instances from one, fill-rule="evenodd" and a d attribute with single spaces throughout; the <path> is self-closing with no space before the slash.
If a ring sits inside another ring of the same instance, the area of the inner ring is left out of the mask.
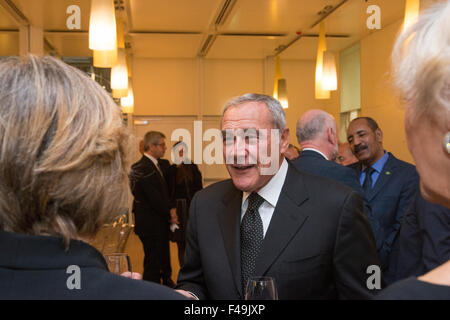
<path id="1" fill-rule="evenodd" d="M 186 143 L 178 141 L 172 149 L 174 164 L 170 169 L 170 195 L 177 205 L 178 228 L 170 233 L 170 239 L 177 243 L 180 266 L 184 264 L 186 248 L 186 226 L 189 206 L 194 194 L 203 188 L 202 174 L 195 163 L 188 158 Z"/>

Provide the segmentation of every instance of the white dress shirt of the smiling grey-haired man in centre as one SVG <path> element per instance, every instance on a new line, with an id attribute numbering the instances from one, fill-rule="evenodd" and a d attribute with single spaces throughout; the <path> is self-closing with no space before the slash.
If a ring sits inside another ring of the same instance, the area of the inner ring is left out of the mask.
<path id="1" fill-rule="evenodd" d="M 281 188 L 283 187 L 284 180 L 286 179 L 286 174 L 288 170 L 288 163 L 286 159 L 283 159 L 280 169 L 278 172 L 270 179 L 269 183 L 266 184 L 257 193 L 264 199 L 264 202 L 258 209 L 259 215 L 263 222 L 264 237 L 266 236 L 267 229 L 269 228 L 270 220 L 272 219 L 273 211 L 280 197 Z M 248 196 L 251 192 L 245 192 L 242 195 L 242 207 L 241 207 L 241 221 L 244 217 L 245 211 L 248 207 Z"/>

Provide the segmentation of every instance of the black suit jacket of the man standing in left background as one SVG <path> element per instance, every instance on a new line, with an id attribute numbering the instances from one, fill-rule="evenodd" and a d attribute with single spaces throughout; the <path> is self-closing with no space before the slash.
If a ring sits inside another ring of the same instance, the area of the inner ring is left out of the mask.
<path id="1" fill-rule="evenodd" d="M 135 232 L 139 236 L 167 235 L 171 201 L 165 179 L 146 156 L 131 166 Z"/>

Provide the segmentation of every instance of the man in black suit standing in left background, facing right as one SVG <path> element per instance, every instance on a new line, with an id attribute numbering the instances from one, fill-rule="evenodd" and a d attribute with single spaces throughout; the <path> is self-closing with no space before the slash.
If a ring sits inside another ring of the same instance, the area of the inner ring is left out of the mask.
<path id="1" fill-rule="evenodd" d="M 149 131 L 143 140 L 144 154 L 131 166 L 135 232 L 144 247 L 143 279 L 173 287 L 170 276 L 169 225 L 177 223 L 166 179 L 158 160 L 166 152 L 165 136 Z"/>

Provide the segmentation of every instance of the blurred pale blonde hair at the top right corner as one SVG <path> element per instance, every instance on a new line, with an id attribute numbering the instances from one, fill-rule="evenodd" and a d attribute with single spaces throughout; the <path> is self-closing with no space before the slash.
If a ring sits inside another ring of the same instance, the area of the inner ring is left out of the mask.
<path id="1" fill-rule="evenodd" d="M 444 126 L 450 117 L 449 17 L 449 1 L 422 13 L 392 52 L 394 84 L 411 108 L 411 119 L 426 116 Z"/>

